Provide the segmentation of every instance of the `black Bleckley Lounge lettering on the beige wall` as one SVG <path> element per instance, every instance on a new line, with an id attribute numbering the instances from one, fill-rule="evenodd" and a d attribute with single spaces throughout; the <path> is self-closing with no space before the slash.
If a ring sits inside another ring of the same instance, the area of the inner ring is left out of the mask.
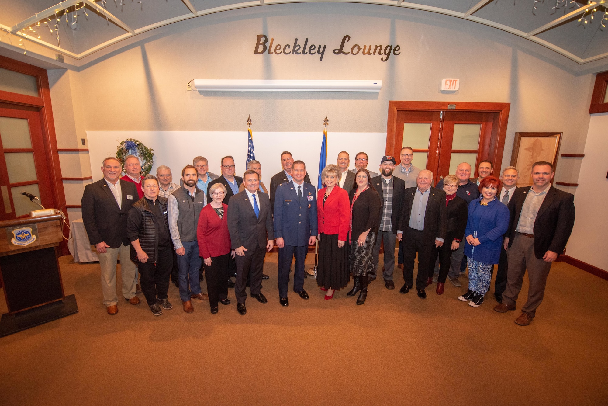
<path id="1" fill-rule="evenodd" d="M 320 55 L 319 60 L 323 60 L 325 55 L 326 45 L 317 45 L 311 43 L 308 44 L 308 38 L 304 40 L 304 43 L 298 43 L 298 38 L 295 38 L 293 44 L 275 44 L 274 38 L 268 41 L 268 36 L 264 34 L 257 35 L 257 43 L 255 44 L 254 54 L 262 55 L 268 53 L 269 55 Z M 334 49 L 334 55 L 378 55 L 381 57 L 382 62 L 389 60 L 390 55 L 399 55 L 400 46 L 395 45 L 364 45 L 353 44 L 349 46 L 347 43 L 350 41 L 350 35 L 342 37 L 342 43 L 336 49 Z M 383 56 L 384 55 L 384 56 Z"/>

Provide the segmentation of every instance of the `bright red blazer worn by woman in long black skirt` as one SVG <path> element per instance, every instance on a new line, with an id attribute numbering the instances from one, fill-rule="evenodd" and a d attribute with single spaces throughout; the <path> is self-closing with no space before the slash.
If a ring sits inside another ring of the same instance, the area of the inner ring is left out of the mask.
<path id="1" fill-rule="evenodd" d="M 323 195 L 326 187 L 317 193 L 317 221 L 319 222 L 319 234 L 337 234 L 340 241 L 347 241 L 348 229 L 350 228 L 350 201 L 348 193 L 338 185 L 331 190 L 325 207 L 323 207 Z"/>

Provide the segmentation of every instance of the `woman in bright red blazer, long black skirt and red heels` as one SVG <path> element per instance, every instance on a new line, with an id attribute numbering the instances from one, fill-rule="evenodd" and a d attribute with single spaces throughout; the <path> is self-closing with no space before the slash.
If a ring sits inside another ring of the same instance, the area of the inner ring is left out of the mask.
<path id="1" fill-rule="evenodd" d="M 325 300 L 334 297 L 335 289 L 348 285 L 348 227 L 350 202 L 346 190 L 338 186 L 340 169 L 327 165 L 321 173 L 326 187 L 317 193 L 317 219 L 319 221 L 319 261 L 317 285 L 326 291 Z"/>

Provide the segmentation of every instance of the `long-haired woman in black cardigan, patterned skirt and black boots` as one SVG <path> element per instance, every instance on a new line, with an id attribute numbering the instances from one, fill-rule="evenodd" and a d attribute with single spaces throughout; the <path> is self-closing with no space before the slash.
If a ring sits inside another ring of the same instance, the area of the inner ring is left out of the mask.
<path id="1" fill-rule="evenodd" d="M 360 169 L 354 178 L 356 189 L 350 197 L 350 272 L 354 287 L 347 293 L 354 296 L 361 291 L 357 305 L 363 305 L 367 298 L 367 273 L 373 270 L 372 249 L 376 242 L 378 222 L 382 203 L 375 188 L 371 186 L 370 173 Z"/>

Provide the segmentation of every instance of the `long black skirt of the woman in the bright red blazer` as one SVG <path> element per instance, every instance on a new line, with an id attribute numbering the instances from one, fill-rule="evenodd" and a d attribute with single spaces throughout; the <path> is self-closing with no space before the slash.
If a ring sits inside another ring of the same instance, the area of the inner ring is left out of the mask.
<path id="1" fill-rule="evenodd" d="M 348 241 L 338 247 L 337 234 L 321 234 L 319 238 L 319 260 L 317 262 L 317 285 L 325 289 L 342 289 L 348 286 Z"/>

